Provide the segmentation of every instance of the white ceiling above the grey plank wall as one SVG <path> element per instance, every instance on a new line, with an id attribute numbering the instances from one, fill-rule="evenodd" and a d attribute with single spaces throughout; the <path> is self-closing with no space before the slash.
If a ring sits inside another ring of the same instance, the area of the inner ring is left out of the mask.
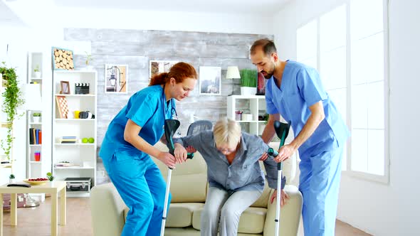
<path id="1" fill-rule="evenodd" d="M 39 25 L 40 16 L 65 8 L 171 11 L 175 17 L 177 12 L 272 16 L 290 1 L 293 0 L 0 0 L 0 26 Z"/>

